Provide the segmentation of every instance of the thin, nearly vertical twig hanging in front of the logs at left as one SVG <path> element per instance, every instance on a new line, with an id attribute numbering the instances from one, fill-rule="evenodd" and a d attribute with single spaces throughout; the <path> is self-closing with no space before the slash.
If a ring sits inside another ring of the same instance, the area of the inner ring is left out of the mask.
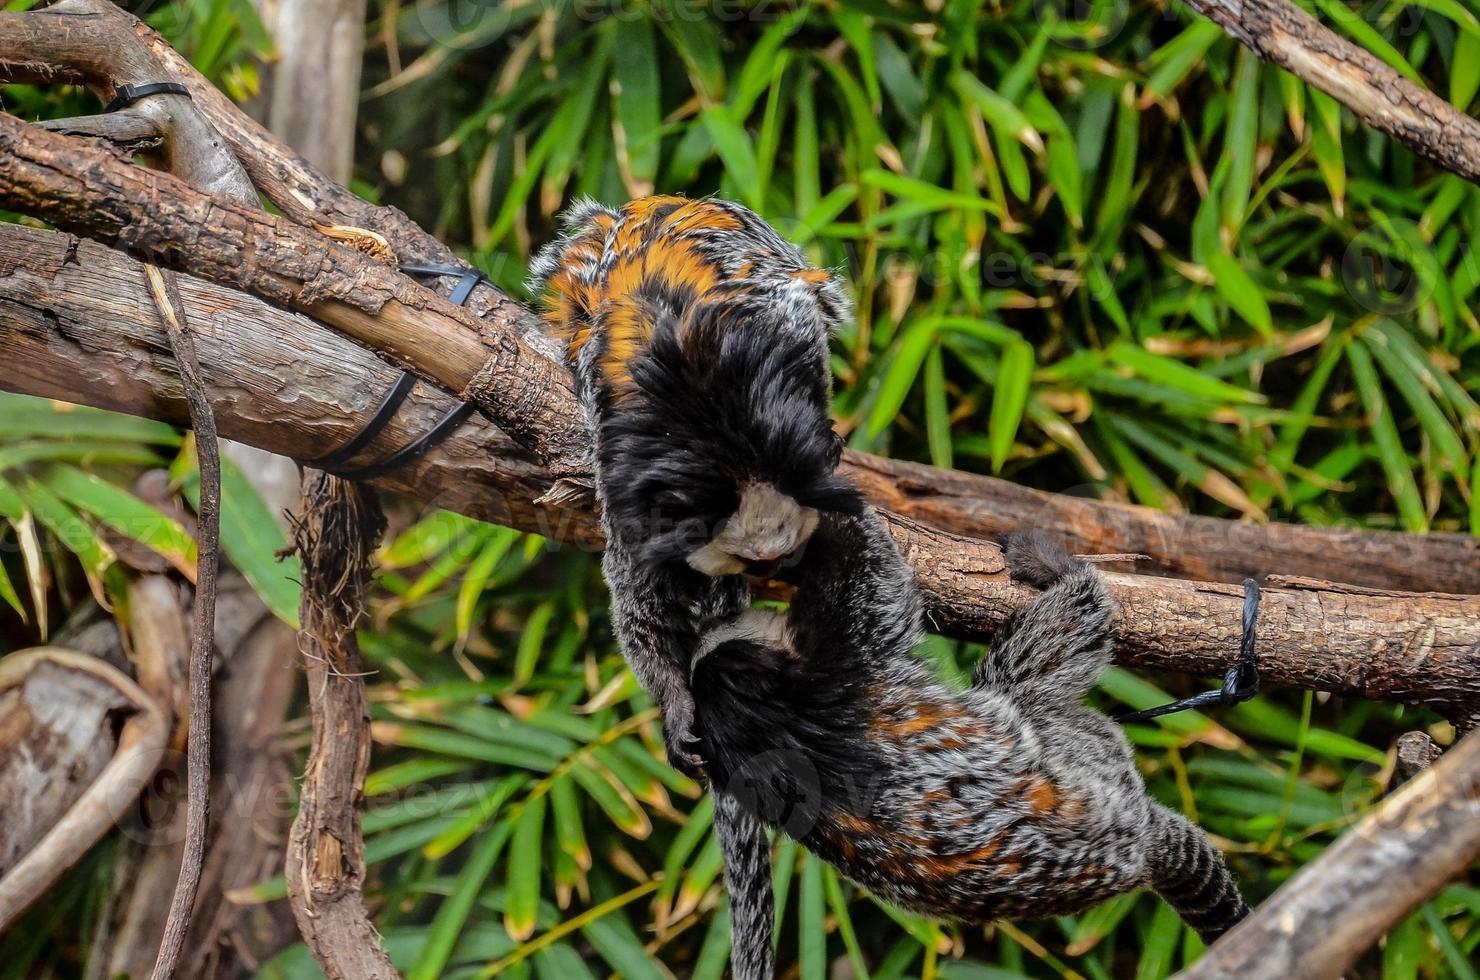
<path id="1" fill-rule="evenodd" d="M 216 446 L 216 416 L 206 397 L 195 345 L 185 327 L 185 302 L 175 274 L 145 265 L 154 306 L 181 372 L 181 386 L 195 429 L 200 463 L 198 548 L 195 558 L 195 610 L 189 637 L 189 740 L 186 776 L 185 854 L 175 881 L 170 915 L 164 922 L 154 980 L 175 976 L 185 933 L 189 930 L 195 888 L 206 856 L 206 826 L 210 814 L 210 654 L 216 634 L 216 571 L 221 561 L 221 452 Z"/>

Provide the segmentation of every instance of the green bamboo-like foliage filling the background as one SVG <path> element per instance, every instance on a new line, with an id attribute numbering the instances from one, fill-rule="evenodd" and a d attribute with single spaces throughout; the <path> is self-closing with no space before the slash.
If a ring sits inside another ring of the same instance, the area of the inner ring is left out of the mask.
<path id="1" fill-rule="evenodd" d="M 1055 0 L 371 7 L 357 189 L 511 290 L 574 195 L 718 192 L 852 283 L 835 373 L 855 447 L 1174 511 L 1480 533 L 1480 188 L 1183 7 L 1100 0 L 1067 7 L 1072 22 Z M 1476 0 L 1311 10 L 1473 108 Z M 269 43 L 243 0 L 152 19 L 252 95 Z M 87 105 L 6 90 L 24 115 Z M 55 622 L 126 595 L 105 527 L 189 561 L 184 528 L 124 489 L 169 465 L 189 493 L 178 431 L 6 397 L 0 438 L 0 515 L 21 545 L 0 574 L 10 645 L 38 640 L 47 607 Z M 228 480 L 229 557 L 292 617 L 281 542 Z M 370 900 L 398 965 L 719 977 L 710 808 L 660 762 L 593 557 L 445 512 L 400 517 L 364 631 Z M 931 640 L 922 656 L 961 672 L 980 650 Z M 1095 697 L 1147 706 L 1169 693 L 1156 684 L 1199 685 L 1111 671 Z M 1258 900 L 1391 785 L 1388 746 L 1413 727 L 1447 736 L 1424 714 L 1271 691 L 1131 736 L 1151 792 L 1225 844 Z M 80 971 L 108 857 L 0 943 L 0 974 Z M 789 842 L 776 884 L 780 961 L 804 980 L 1141 980 L 1200 952 L 1151 896 L 940 925 Z M 281 893 L 269 881 L 256 897 Z M 1471 876 L 1365 968 L 1473 979 L 1477 946 Z M 297 947 L 262 974 L 308 964 Z"/>

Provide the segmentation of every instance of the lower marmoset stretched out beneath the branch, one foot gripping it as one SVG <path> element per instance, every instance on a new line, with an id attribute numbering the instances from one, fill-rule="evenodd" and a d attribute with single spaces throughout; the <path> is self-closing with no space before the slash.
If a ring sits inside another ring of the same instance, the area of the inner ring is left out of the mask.
<path id="1" fill-rule="evenodd" d="M 703 637 L 693 687 L 737 980 L 771 976 L 762 822 L 935 918 L 1064 915 L 1141 887 L 1205 940 L 1246 915 L 1206 835 L 1147 795 L 1120 727 L 1082 703 L 1110 663 L 1098 571 L 1042 534 L 1009 539 L 1006 561 L 1043 594 L 966 690 L 912 656 L 915 574 L 872 512 L 821 517 L 787 613 L 747 610 Z"/>

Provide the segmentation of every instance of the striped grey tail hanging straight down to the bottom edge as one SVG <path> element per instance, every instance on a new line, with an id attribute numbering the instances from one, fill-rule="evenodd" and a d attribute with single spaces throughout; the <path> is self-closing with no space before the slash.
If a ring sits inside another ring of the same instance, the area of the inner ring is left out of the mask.
<path id="1" fill-rule="evenodd" d="M 725 792 L 715 792 L 715 833 L 730 893 L 730 971 L 734 980 L 773 980 L 771 841 L 765 826 Z"/>

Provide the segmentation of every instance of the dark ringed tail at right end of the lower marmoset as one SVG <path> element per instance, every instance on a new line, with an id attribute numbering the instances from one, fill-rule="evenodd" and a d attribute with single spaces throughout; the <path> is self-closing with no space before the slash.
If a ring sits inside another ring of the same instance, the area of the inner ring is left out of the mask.
<path id="1" fill-rule="evenodd" d="M 1249 913 L 1233 872 L 1208 835 L 1187 817 L 1162 811 L 1160 847 L 1151 856 L 1151 888 L 1205 943 Z"/>

